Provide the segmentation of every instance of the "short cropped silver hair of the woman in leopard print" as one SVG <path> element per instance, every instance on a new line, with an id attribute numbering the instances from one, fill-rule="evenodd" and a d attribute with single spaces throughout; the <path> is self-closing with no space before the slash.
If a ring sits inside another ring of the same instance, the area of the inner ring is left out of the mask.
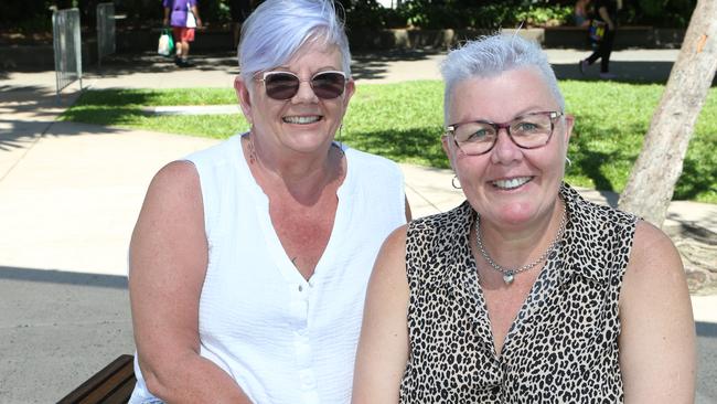
<path id="1" fill-rule="evenodd" d="M 449 52 L 446 60 L 441 62 L 440 71 L 446 85 L 443 118 L 448 119 L 450 95 L 460 82 L 473 77 L 495 77 L 521 67 L 534 67 L 553 93 L 560 110 L 565 110 L 565 98 L 558 87 L 555 72 L 541 46 L 517 34 L 496 33 L 465 42 Z"/>

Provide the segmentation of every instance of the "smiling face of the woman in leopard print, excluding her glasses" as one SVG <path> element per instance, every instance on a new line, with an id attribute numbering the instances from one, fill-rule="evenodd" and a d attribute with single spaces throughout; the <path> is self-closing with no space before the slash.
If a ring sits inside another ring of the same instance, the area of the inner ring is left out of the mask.
<path id="1" fill-rule="evenodd" d="M 449 102 L 448 125 L 469 120 L 503 124 L 528 113 L 560 111 L 534 68 L 463 81 L 456 85 Z M 549 142 L 537 149 L 520 148 L 505 129 L 484 155 L 463 153 L 450 136 L 443 137 L 443 149 L 473 209 L 485 221 L 521 227 L 553 211 L 571 130 L 572 118 L 563 117 L 555 120 Z"/>

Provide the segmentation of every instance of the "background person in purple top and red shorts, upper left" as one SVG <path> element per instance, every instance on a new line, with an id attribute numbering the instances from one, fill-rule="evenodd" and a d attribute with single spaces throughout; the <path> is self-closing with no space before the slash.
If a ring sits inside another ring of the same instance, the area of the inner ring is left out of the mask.
<path id="1" fill-rule="evenodd" d="M 172 26 L 176 55 L 174 64 L 191 67 L 189 62 L 190 42 L 194 42 L 194 29 L 202 26 L 196 0 L 162 0 L 164 7 L 164 26 Z"/>

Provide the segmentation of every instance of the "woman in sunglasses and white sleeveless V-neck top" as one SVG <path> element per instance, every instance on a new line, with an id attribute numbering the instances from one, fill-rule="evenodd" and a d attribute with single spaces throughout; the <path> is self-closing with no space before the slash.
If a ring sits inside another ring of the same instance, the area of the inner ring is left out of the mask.
<path id="1" fill-rule="evenodd" d="M 132 403 L 347 403 L 366 284 L 409 216 L 398 167 L 336 142 L 354 93 L 330 0 L 267 0 L 250 130 L 156 176 L 132 235 Z"/>

